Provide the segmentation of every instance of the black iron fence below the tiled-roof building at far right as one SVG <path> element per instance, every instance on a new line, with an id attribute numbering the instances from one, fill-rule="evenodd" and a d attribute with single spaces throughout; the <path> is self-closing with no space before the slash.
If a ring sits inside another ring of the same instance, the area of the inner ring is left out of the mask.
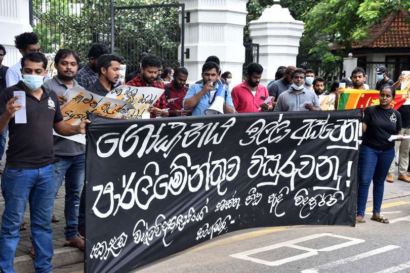
<path id="1" fill-rule="evenodd" d="M 387 76 L 393 81 L 397 81 L 402 71 L 410 70 L 410 62 L 367 62 L 359 59 L 357 66 L 366 71 L 366 83 L 371 89 L 376 88 L 378 82 L 376 69 L 382 65 L 387 68 Z"/>

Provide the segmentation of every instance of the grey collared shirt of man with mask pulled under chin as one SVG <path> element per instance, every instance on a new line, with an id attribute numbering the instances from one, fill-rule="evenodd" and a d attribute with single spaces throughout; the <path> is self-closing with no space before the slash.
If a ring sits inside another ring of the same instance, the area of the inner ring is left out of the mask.
<path id="1" fill-rule="evenodd" d="M 299 112 L 309 111 L 306 107 L 300 107 L 305 102 L 313 103 L 316 108 L 321 108 L 319 99 L 316 94 L 306 88 L 303 88 L 299 94 L 296 94 L 292 88 L 279 95 L 275 110 L 276 112 Z"/>

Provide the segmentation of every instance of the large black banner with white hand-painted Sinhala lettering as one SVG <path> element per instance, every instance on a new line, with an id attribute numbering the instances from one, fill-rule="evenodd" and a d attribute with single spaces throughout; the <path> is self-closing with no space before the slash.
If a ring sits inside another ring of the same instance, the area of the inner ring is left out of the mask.
<path id="1" fill-rule="evenodd" d="M 86 271 L 130 271 L 242 229 L 354 226 L 361 115 L 92 115 Z"/>

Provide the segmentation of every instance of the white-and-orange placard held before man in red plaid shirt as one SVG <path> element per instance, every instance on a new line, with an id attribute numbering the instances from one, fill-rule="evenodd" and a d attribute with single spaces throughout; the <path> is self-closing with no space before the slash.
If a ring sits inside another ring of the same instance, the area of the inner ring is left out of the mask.
<path id="1" fill-rule="evenodd" d="M 164 89 L 155 87 L 137 87 L 120 85 L 112 89 L 106 98 L 126 101 L 132 104 L 135 111 L 127 114 L 126 119 L 149 118 L 148 108 L 153 105 L 164 92 Z"/>

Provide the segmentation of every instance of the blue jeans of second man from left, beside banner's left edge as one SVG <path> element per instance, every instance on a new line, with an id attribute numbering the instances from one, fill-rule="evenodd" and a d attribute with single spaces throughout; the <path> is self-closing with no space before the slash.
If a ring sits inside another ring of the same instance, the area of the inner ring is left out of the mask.
<path id="1" fill-rule="evenodd" d="M 71 241 L 77 236 L 78 206 L 81 189 L 84 184 L 86 154 L 77 156 L 56 156 L 55 163 L 55 196 L 57 196 L 65 176 L 65 239 Z"/>

